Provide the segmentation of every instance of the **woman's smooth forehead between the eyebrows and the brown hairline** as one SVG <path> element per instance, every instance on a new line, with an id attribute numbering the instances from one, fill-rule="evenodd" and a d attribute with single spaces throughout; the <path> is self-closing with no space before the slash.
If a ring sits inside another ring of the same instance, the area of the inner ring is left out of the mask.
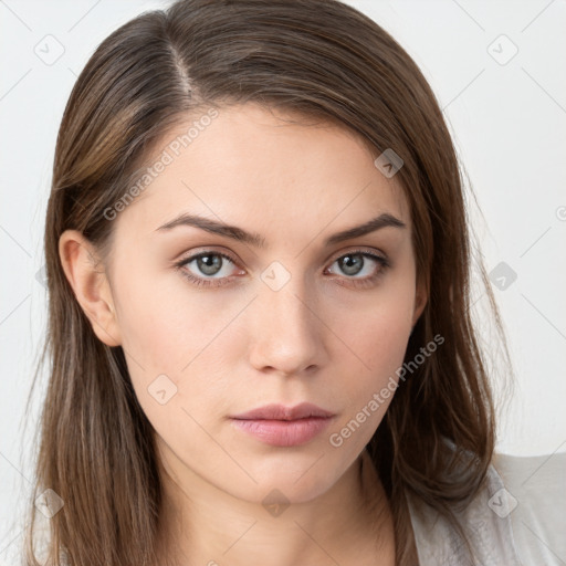
<path id="1" fill-rule="evenodd" d="M 155 144 L 146 161 L 150 182 L 120 222 L 153 231 L 192 211 L 253 219 L 260 232 L 285 223 L 339 228 L 379 212 L 409 223 L 402 187 L 375 167 L 377 153 L 346 127 L 252 104 L 211 115 L 192 114 Z"/>

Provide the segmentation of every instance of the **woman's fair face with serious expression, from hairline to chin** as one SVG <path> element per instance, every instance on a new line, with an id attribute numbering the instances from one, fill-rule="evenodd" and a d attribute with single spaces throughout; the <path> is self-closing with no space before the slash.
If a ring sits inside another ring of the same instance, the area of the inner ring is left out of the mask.
<path id="1" fill-rule="evenodd" d="M 396 178 L 348 130 L 279 116 L 223 108 L 168 150 L 111 220 L 112 319 L 93 325 L 123 346 L 167 468 L 253 502 L 273 489 L 308 501 L 353 465 L 423 307 Z M 304 402 L 328 417 L 234 419 Z"/>

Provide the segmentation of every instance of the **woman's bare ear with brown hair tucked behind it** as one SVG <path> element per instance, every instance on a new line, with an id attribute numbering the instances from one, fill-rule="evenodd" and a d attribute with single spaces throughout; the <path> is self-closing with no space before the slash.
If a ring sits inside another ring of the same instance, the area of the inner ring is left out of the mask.
<path id="1" fill-rule="evenodd" d="M 119 346 L 122 337 L 114 300 L 96 249 L 77 230 L 65 230 L 59 239 L 59 255 L 76 301 L 96 336 L 107 346 Z"/>

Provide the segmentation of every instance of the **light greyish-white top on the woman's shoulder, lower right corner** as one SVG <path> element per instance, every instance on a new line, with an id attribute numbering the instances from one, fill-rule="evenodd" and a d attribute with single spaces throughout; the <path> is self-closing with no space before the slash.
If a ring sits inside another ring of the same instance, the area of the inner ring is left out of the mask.
<path id="1" fill-rule="evenodd" d="M 470 566 L 455 530 L 409 496 L 419 566 Z M 485 488 L 459 515 L 473 565 L 566 566 L 566 453 L 495 454 Z"/>

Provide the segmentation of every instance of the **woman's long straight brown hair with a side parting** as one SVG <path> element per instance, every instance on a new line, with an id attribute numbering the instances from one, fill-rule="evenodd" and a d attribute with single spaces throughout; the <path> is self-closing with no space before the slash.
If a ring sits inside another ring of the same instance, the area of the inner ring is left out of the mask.
<path id="1" fill-rule="evenodd" d="M 483 485 L 494 408 L 470 314 L 463 181 L 423 75 L 376 22 L 336 0 L 179 0 L 135 18 L 97 48 L 57 136 L 40 360 L 49 356 L 51 364 L 33 494 L 50 489 L 64 502 L 49 522 L 49 565 L 168 564 L 157 551 L 163 492 L 153 427 L 122 348 L 96 338 L 75 300 L 59 239 L 78 230 L 105 258 L 114 223 L 104 211 L 123 198 L 156 142 L 187 116 L 245 102 L 337 122 L 376 156 L 392 149 L 403 160 L 397 178 L 428 291 L 406 360 L 434 335 L 444 343 L 400 384 L 368 444 L 394 514 L 397 564 L 410 556 L 408 492 L 455 522 L 454 504 Z M 502 332 L 481 264 L 478 273 Z M 463 458 L 459 473 L 447 473 Z M 35 516 L 30 505 L 28 565 L 38 565 Z"/>

